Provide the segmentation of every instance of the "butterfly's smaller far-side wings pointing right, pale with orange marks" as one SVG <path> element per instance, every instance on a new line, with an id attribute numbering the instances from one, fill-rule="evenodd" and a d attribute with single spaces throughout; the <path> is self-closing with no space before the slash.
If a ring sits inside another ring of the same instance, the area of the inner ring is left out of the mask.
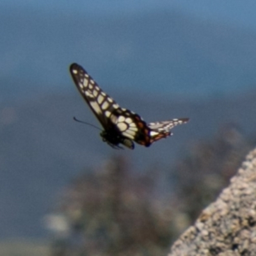
<path id="1" fill-rule="evenodd" d="M 173 129 L 173 127 L 179 124 L 186 124 L 188 121 L 189 118 L 175 118 L 169 121 L 149 123 L 148 127 L 151 130 L 150 143 L 172 136 L 173 133 L 170 130 Z"/>

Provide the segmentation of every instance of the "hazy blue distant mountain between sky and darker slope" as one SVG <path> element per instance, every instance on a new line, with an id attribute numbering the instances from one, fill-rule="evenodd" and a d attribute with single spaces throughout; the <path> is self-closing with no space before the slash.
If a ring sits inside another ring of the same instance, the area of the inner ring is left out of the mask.
<path id="1" fill-rule="evenodd" d="M 111 17 L 3 8 L 0 14 L 1 100 L 67 90 L 72 62 L 99 84 L 140 94 L 218 97 L 250 90 L 256 81 L 254 31 L 177 10 Z"/>

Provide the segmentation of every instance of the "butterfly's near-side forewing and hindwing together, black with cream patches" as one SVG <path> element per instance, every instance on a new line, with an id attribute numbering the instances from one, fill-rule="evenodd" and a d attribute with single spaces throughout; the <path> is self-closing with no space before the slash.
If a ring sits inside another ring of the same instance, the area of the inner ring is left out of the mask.
<path id="1" fill-rule="evenodd" d="M 123 137 L 125 137 L 141 145 L 150 145 L 148 136 L 150 129 L 139 115 L 128 109 L 120 108 L 80 65 L 76 63 L 70 65 L 70 73 L 84 100 L 107 131 L 105 136 L 108 137 L 106 139 L 108 142 L 115 137 L 115 141 L 119 140 L 124 144 Z M 127 145 L 131 145 L 131 142 L 126 140 L 125 146 Z"/>

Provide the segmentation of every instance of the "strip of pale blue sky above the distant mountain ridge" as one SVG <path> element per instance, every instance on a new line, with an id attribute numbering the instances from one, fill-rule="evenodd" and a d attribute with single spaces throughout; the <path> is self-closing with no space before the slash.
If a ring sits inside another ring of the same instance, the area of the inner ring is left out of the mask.
<path id="1" fill-rule="evenodd" d="M 254 0 L 73 0 L 31 1 L 3 0 L 0 6 L 83 12 L 84 15 L 123 15 L 124 13 L 150 12 L 180 8 L 202 19 L 223 20 L 241 27 L 256 29 L 256 1 Z"/>

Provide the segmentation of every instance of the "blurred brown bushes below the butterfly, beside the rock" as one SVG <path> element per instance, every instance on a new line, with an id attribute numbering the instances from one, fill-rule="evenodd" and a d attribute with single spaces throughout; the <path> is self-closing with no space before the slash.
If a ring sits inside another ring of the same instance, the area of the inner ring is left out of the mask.
<path id="1" fill-rule="evenodd" d="M 166 255 L 170 244 L 227 187 L 255 145 L 234 125 L 197 141 L 166 176 L 175 188 L 159 193 L 161 166 L 132 172 L 125 157 L 78 175 L 45 218 L 52 255 Z M 162 187 L 163 189 L 163 187 Z M 158 193 L 157 193 L 158 190 Z M 78 238 L 79 237 L 79 238 Z"/>

